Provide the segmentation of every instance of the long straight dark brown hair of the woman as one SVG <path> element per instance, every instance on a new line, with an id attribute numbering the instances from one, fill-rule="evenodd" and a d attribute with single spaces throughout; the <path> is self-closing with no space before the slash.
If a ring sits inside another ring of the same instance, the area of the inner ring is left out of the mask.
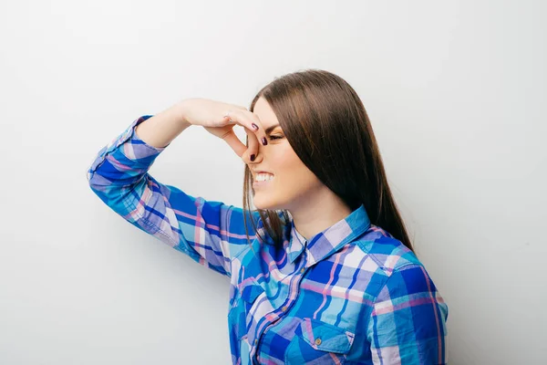
<path id="1" fill-rule="evenodd" d="M 364 204 L 371 224 L 414 251 L 389 189 L 365 106 L 356 91 L 331 72 L 307 69 L 274 78 L 256 94 L 250 111 L 261 97 L 274 110 L 286 139 L 304 165 L 352 211 Z M 253 174 L 245 165 L 243 217 L 247 239 L 251 193 L 254 195 Z M 283 225 L 289 219 L 286 211 L 280 212 L 258 210 L 275 245 L 283 243 Z M 251 222 L 256 233 L 256 224 L 253 219 Z"/>

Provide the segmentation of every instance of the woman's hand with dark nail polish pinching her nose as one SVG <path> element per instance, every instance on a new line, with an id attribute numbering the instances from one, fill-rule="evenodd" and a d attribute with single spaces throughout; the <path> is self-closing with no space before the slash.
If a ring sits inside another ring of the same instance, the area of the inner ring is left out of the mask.
<path id="1" fill-rule="evenodd" d="M 200 125 L 212 135 L 226 141 L 245 163 L 254 160 L 253 156 L 258 153 L 259 141 L 267 144 L 261 121 L 245 107 L 201 98 L 185 99 L 182 105 L 186 121 L 191 125 Z M 247 133 L 249 147 L 245 146 L 233 132 L 233 126 L 236 124 L 241 125 Z"/>

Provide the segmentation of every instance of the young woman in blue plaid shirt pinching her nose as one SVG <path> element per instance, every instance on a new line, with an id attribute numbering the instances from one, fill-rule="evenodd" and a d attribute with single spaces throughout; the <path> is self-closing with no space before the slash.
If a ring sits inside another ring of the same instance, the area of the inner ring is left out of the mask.
<path id="1" fill-rule="evenodd" d="M 243 208 L 148 173 L 189 126 L 246 164 Z M 88 181 L 130 224 L 231 277 L 233 364 L 447 363 L 448 307 L 413 252 L 365 107 L 344 79 L 317 69 L 275 78 L 249 110 L 182 100 L 133 121 L 98 152 Z"/>

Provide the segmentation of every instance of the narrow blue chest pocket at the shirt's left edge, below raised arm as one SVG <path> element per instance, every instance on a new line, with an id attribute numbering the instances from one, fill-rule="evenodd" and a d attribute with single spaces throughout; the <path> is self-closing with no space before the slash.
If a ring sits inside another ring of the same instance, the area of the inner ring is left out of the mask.
<path id="1" fill-rule="evenodd" d="M 228 313 L 228 318 L 232 324 L 237 339 L 242 339 L 247 335 L 247 328 L 251 321 L 250 311 L 256 298 L 264 292 L 263 287 L 254 279 L 245 280 L 245 284 L 238 287 L 235 294 L 232 308 Z"/>

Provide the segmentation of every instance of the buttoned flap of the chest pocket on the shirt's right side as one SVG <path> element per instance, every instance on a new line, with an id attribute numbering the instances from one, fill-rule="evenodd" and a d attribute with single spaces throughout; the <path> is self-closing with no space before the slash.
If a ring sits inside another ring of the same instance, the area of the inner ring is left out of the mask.
<path id="1" fill-rule="evenodd" d="M 355 334 L 313 318 L 303 318 L 302 338 L 314 349 L 345 354 L 351 348 Z"/>

